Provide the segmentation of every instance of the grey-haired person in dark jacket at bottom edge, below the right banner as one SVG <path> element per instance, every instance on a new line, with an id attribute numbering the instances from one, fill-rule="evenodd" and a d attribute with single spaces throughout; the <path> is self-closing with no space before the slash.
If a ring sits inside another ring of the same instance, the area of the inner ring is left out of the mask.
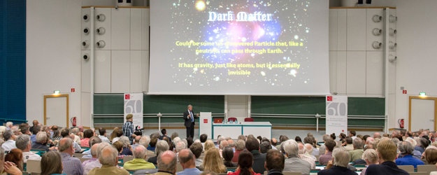
<path id="1" fill-rule="evenodd" d="M 335 148 L 332 152 L 332 162 L 329 162 L 327 169 L 320 170 L 317 175 L 356 175 L 357 173 L 348 169 L 348 157 L 348 151 L 345 148 Z"/>

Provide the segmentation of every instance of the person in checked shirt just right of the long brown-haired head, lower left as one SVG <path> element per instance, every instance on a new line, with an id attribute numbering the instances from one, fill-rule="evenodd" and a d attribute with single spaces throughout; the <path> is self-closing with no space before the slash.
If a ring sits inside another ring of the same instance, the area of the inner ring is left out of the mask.
<path id="1" fill-rule="evenodd" d="M 39 133 L 38 133 L 39 134 Z M 38 137 L 36 137 L 38 139 Z M 74 153 L 73 139 L 63 138 L 59 141 L 59 152 L 66 174 L 83 174 L 82 163 L 78 158 L 71 157 Z"/>

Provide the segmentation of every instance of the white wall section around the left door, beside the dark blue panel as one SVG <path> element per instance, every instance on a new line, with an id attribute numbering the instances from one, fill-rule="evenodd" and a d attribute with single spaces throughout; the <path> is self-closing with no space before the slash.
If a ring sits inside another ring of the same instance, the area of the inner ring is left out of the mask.
<path id="1" fill-rule="evenodd" d="M 26 118 L 43 123 L 43 95 L 69 93 L 69 116 L 80 125 L 82 1 L 27 1 Z M 71 88 L 76 92 L 71 93 Z"/>

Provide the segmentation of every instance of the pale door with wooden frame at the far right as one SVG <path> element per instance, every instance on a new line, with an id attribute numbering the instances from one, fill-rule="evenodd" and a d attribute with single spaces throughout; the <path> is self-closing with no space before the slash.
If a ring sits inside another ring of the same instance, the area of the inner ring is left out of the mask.
<path id="1" fill-rule="evenodd" d="M 436 130 L 436 101 L 431 97 L 410 97 L 409 130 Z"/>

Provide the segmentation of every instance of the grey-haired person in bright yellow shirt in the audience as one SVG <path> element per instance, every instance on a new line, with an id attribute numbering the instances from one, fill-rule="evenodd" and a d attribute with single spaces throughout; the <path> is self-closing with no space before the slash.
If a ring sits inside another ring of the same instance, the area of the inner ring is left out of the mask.
<path id="1" fill-rule="evenodd" d="M 150 162 L 145 162 L 147 157 L 147 149 L 139 145 L 134 148 L 134 160 L 125 162 L 124 169 L 155 169 L 155 165 Z"/>

